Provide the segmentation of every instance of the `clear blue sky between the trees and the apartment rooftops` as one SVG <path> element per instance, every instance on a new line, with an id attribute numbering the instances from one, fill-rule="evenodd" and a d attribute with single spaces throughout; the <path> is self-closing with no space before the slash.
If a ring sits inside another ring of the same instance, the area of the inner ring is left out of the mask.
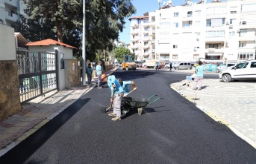
<path id="1" fill-rule="evenodd" d="M 163 6 L 163 1 L 168 0 L 162 0 L 161 6 Z M 137 12 L 132 15 L 134 16 L 143 16 L 146 12 L 153 12 L 155 10 L 158 10 L 159 4 L 158 0 L 131 0 L 131 3 L 136 7 Z M 184 4 L 185 0 L 172 0 L 172 6 L 180 6 L 181 4 Z M 129 17 L 129 18 L 131 18 Z M 130 24 L 131 22 L 128 19 L 125 19 L 125 28 L 123 29 L 122 33 L 119 33 L 119 41 L 125 42 L 125 44 L 130 43 Z"/>

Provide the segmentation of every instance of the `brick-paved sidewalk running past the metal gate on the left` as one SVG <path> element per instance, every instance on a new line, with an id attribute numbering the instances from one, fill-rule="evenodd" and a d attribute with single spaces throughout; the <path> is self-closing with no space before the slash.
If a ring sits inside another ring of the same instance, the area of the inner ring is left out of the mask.
<path id="1" fill-rule="evenodd" d="M 114 70 L 116 68 L 104 73 L 111 74 Z M 0 157 L 22 140 L 34 134 L 40 127 L 95 86 L 96 82 L 93 79 L 91 85 L 78 86 L 70 90 L 52 91 L 46 96 L 37 97 L 22 105 L 22 110 L 18 114 L 0 122 Z"/>

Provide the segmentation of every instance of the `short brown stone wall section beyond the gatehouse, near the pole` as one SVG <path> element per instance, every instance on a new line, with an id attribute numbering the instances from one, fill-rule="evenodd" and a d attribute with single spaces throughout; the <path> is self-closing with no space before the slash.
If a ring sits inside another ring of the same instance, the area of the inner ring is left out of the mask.
<path id="1" fill-rule="evenodd" d="M 77 59 L 65 59 L 66 88 L 81 85 L 81 66 Z"/>

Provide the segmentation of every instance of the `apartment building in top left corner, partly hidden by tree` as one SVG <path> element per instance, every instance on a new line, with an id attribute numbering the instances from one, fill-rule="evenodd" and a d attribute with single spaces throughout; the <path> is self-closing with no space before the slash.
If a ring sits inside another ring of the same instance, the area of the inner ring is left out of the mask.
<path id="1" fill-rule="evenodd" d="M 9 27 L 19 20 L 19 14 L 25 15 L 26 5 L 19 0 L 0 0 L 0 23 Z"/>

